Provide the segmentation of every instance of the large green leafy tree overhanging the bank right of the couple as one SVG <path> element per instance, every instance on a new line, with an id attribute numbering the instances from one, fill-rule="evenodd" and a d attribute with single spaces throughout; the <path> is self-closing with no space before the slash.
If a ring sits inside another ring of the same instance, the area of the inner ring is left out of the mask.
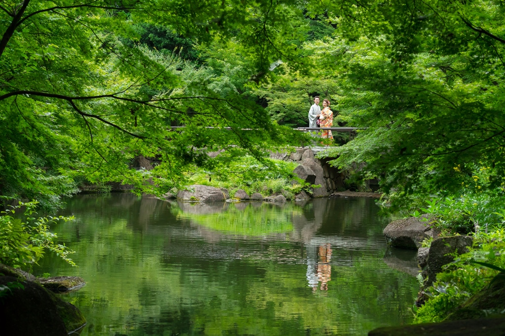
<path id="1" fill-rule="evenodd" d="M 491 167 L 503 192 L 503 4 L 340 1 L 324 59 L 348 92 L 352 125 L 368 127 L 329 151 L 335 165 L 367 162 L 385 191 L 454 192 L 460 171 Z M 317 11 L 317 8 L 314 8 Z M 458 171 L 458 168 L 460 171 Z"/>

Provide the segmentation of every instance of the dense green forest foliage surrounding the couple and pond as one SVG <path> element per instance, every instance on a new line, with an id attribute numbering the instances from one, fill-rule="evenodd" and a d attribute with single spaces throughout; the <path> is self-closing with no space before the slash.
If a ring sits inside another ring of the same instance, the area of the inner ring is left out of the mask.
<path id="1" fill-rule="evenodd" d="M 79 183 L 162 194 L 230 167 L 268 179 L 283 169 L 269 151 L 311 143 L 293 127 L 319 95 L 334 125 L 362 128 L 321 158 L 366 163 L 385 209 L 475 235 L 502 274 L 504 14 L 494 0 L 0 1 L 0 196 L 55 211 Z M 0 238 L 26 246 L 11 219 Z M 435 293 L 450 304 L 425 321 L 493 275 L 462 260 L 471 276 L 445 285 L 464 291 Z"/>

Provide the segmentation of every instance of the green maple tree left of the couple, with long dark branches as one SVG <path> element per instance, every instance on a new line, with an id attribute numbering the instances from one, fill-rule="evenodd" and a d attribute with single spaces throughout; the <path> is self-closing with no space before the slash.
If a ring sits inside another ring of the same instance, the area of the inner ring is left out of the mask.
<path id="1" fill-rule="evenodd" d="M 239 145 L 230 155 L 261 158 L 274 145 L 299 138 L 270 122 L 243 92 L 223 95 L 214 80 L 188 83 L 177 56 L 187 40 L 175 41 L 173 52 L 158 51 L 159 41 L 140 29 L 164 27 L 166 39 L 189 38 L 200 50 L 233 43 L 247 60 L 240 76 L 249 77 L 242 80 L 255 85 L 269 76 L 272 61 L 297 57 L 284 37 L 298 34 L 290 25 L 300 13 L 294 2 L 24 0 L 3 2 L 0 10 L 6 23 L 0 30 L 5 196 L 45 197 L 54 205 L 75 191 L 76 175 L 162 192 L 183 183 L 188 164 L 212 168 L 221 160 L 206 151 Z M 171 124 L 187 128 L 174 131 Z M 134 170 L 137 156 L 160 164 Z"/>

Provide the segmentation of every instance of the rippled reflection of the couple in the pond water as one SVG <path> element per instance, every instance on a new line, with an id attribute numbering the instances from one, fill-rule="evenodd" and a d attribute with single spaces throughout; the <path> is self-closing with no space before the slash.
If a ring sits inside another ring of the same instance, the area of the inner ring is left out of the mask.
<path id="1" fill-rule="evenodd" d="M 328 281 L 331 280 L 331 246 L 330 244 L 307 246 L 307 281 L 313 291 L 317 290 L 321 282 L 322 291 L 328 290 Z"/>

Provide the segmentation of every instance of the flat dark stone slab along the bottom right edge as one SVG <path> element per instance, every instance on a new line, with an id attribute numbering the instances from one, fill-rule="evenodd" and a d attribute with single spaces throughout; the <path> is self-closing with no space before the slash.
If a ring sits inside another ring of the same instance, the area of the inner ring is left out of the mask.
<path id="1" fill-rule="evenodd" d="M 377 328 L 368 336 L 502 336 L 505 318 L 482 318 Z"/>

